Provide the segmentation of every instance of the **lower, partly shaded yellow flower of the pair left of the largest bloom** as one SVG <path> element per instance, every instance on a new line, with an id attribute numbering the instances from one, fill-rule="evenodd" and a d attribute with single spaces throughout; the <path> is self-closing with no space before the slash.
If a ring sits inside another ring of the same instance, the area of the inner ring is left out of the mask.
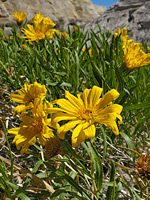
<path id="1" fill-rule="evenodd" d="M 41 99 L 35 99 L 32 109 L 32 116 L 22 116 L 22 122 L 19 127 L 8 130 L 8 133 L 14 134 L 13 143 L 16 144 L 18 150 L 21 149 L 21 155 L 28 152 L 28 147 L 36 143 L 38 138 L 40 144 L 45 145 L 47 139 L 54 137 L 51 128 L 51 119 L 47 119 L 45 112 L 46 103 L 42 103 Z"/>

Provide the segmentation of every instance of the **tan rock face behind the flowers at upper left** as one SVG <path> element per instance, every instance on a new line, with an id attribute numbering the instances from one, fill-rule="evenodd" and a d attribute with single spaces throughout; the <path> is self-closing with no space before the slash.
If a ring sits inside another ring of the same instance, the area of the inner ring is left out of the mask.
<path id="1" fill-rule="evenodd" d="M 66 29 L 68 25 L 83 26 L 105 10 L 90 0 L 0 0 L 0 24 L 15 23 L 15 11 L 26 12 L 28 22 L 40 11 L 44 17 L 51 18 L 57 28 Z"/>

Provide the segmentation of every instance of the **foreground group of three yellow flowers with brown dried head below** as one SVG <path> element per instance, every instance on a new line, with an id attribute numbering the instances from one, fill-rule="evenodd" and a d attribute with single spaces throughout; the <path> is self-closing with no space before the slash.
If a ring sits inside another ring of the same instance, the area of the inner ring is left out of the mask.
<path id="1" fill-rule="evenodd" d="M 35 82 L 31 85 L 25 83 L 24 88 L 18 91 L 19 95 L 11 94 L 11 100 L 22 104 L 15 108 L 15 113 L 20 115 L 22 122 L 19 127 L 9 129 L 8 133 L 15 135 L 13 143 L 16 143 L 18 149 L 23 146 L 21 155 L 28 153 L 28 147 L 34 144 L 37 138 L 40 144 L 46 144 L 48 147 L 47 157 L 56 155 L 60 143 L 54 138 L 56 136 L 50 127 L 57 129 L 60 139 L 64 139 L 67 132 L 72 132 L 73 147 L 77 147 L 86 138 L 95 137 L 95 123 L 104 124 L 118 135 L 116 119 L 118 123 L 122 122 L 120 113 L 123 107 L 113 104 L 113 100 L 119 97 L 119 93 L 112 89 L 100 98 L 102 90 L 93 86 L 92 89 L 85 89 L 83 94 L 78 94 L 77 97 L 65 91 L 66 99 L 57 99 L 50 103 L 43 102 L 47 91 L 45 86 Z M 57 107 L 53 107 L 54 104 Z M 32 117 L 26 114 L 27 111 L 31 111 Z M 48 114 L 52 114 L 52 118 L 47 118 Z M 60 121 L 65 121 L 65 124 L 60 125 Z M 57 148 L 53 148 L 56 141 Z M 55 152 L 52 152 L 52 149 L 55 149 Z"/>

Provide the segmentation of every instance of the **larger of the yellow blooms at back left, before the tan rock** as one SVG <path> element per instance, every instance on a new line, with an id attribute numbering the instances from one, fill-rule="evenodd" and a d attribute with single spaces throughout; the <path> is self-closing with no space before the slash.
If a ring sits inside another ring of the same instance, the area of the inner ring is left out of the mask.
<path id="1" fill-rule="evenodd" d="M 29 41 L 36 41 L 45 40 L 46 37 L 48 39 L 52 38 L 54 32 L 56 30 L 53 27 L 56 25 L 54 24 L 50 18 L 43 17 L 43 15 L 36 14 L 33 17 L 34 25 L 27 24 L 28 29 L 23 28 L 22 32 L 26 35 L 23 38 L 28 38 Z"/>

